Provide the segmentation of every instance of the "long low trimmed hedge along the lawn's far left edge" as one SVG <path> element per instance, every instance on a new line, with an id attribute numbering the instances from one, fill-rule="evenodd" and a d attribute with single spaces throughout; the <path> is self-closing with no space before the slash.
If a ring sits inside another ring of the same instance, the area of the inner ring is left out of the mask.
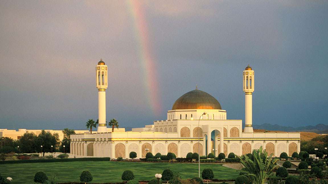
<path id="1" fill-rule="evenodd" d="M 73 161 L 110 161 L 110 157 L 86 157 L 86 158 L 57 158 L 57 159 L 32 159 L 32 160 L 5 160 L 0 164 L 15 163 L 39 163 L 39 162 L 73 162 Z"/>

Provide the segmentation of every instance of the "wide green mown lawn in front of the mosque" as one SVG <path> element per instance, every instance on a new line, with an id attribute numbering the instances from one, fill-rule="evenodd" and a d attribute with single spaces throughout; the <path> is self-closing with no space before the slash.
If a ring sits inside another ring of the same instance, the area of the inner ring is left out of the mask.
<path id="1" fill-rule="evenodd" d="M 236 179 L 236 169 L 223 167 L 221 164 L 200 164 L 200 172 L 204 168 L 211 168 L 217 179 Z M 56 175 L 57 182 L 80 181 L 83 170 L 89 170 L 93 176 L 92 182 L 121 182 L 123 171 L 131 170 L 137 180 L 150 180 L 156 173 L 162 173 L 170 168 L 179 172 L 182 179 L 198 176 L 198 164 L 193 163 L 138 163 L 116 161 L 76 161 L 50 163 L 19 163 L 1 164 L 0 173 L 3 177 L 12 177 L 12 184 L 29 183 L 33 181 L 38 171 L 45 172 L 49 178 Z M 201 175 L 201 173 L 200 173 Z"/>

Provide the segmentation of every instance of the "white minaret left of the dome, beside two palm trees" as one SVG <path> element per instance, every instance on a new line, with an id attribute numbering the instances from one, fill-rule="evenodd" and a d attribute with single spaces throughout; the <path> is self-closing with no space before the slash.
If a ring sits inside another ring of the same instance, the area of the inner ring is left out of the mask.
<path id="1" fill-rule="evenodd" d="M 107 132 L 106 126 L 106 88 L 107 65 L 100 59 L 96 67 L 97 88 L 98 88 L 98 129 L 97 132 Z"/>

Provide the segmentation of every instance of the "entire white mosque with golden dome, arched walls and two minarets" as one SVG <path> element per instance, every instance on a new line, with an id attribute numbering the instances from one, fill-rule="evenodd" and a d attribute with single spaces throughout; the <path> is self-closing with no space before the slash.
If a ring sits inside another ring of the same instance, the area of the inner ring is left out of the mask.
<path id="1" fill-rule="evenodd" d="M 251 153 L 263 146 L 269 154 L 289 156 L 300 151 L 300 133 L 254 133 L 252 127 L 252 93 L 254 91 L 254 70 L 247 66 L 243 71 L 245 92 L 245 127 L 242 120 L 227 120 L 227 112 L 210 94 L 198 90 L 189 91 L 178 98 L 167 120 L 154 121 L 145 128 L 133 128 L 130 132 L 107 132 L 106 99 L 107 65 L 101 60 L 96 66 L 98 88 L 97 133 L 71 135 L 71 154 L 76 157 L 123 157 L 129 158 L 136 152 L 137 158 L 144 158 L 148 152 L 166 155 L 171 152 L 177 157 L 186 157 L 193 152 L 199 155 L 209 153 L 228 156 Z"/>

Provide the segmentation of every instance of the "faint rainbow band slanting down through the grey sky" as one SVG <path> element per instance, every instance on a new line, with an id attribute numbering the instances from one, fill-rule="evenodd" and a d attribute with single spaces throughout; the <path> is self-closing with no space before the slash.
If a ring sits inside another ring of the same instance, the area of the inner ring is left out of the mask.
<path id="1" fill-rule="evenodd" d="M 149 99 L 148 103 L 152 107 L 154 115 L 158 116 L 161 114 L 160 90 L 158 89 L 157 69 L 152 56 L 152 47 L 149 43 L 147 22 L 141 9 L 141 1 L 128 0 L 127 2 L 137 41 L 138 60 L 142 64 L 146 99 Z"/>

